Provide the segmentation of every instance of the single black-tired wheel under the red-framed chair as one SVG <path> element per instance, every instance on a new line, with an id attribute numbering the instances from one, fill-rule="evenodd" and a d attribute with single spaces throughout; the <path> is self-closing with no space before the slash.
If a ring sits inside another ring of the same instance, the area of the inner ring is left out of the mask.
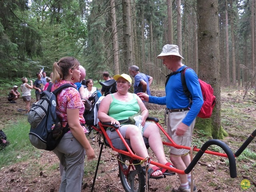
<path id="1" fill-rule="evenodd" d="M 142 166 L 138 164 L 139 160 L 133 160 L 123 154 L 118 155 L 119 176 L 126 192 L 144 192 L 146 181 L 142 172 Z M 129 165 L 131 164 L 131 165 Z"/>

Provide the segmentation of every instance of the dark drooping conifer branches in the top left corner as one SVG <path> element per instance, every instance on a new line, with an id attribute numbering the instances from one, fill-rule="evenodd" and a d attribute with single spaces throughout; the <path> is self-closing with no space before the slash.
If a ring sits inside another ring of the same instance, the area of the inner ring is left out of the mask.
<path id="1" fill-rule="evenodd" d="M 23 76 L 29 60 L 40 56 L 40 33 L 28 10 L 28 0 L 0 2 L 1 77 Z"/>

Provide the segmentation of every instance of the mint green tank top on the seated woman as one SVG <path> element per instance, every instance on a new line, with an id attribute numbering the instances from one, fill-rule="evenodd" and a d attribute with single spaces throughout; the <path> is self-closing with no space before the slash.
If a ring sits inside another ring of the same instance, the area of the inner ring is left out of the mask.
<path id="1" fill-rule="evenodd" d="M 116 120 L 128 119 L 128 117 L 140 111 L 140 106 L 137 102 L 136 97 L 133 94 L 133 99 L 129 102 L 122 102 L 116 100 L 111 94 L 113 101 L 110 104 L 108 115 Z"/>

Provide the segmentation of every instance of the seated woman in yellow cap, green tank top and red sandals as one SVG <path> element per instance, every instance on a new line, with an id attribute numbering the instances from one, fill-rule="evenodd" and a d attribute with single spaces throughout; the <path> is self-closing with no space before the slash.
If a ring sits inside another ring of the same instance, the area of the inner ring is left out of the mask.
<path id="1" fill-rule="evenodd" d="M 111 122 L 111 124 L 119 125 L 119 131 L 122 136 L 126 139 L 130 139 L 132 150 L 138 156 L 147 158 L 149 155 L 142 137 L 143 134 L 144 137 L 148 138 L 149 146 L 156 155 L 158 162 L 167 166 L 172 166 L 172 164 L 166 160 L 158 126 L 155 123 L 146 122 L 146 118 L 148 117 L 147 108 L 136 94 L 128 92 L 132 84 L 130 76 L 122 74 L 115 75 L 113 78 L 117 82 L 118 92 L 108 94 L 102 99 L 98 110 L 98 119 L 101 122 Z M 120 125 L 119 120 L 128 119 L 129 116 L 132 116 L 139 111 L 142 116 L 141 125 L 143 127 L 143 133 L 134 124 Z M 106 132 L 110 140 L 119 138 L 117 132 L 112 131 L 110 128 L 108 128 Z M 161 170 L 159 167 L 150 164 L 147 174 L 148 178 L 158 179 L 163 178 L 163 174 L 171 175 L 173 172 L 166 169 Z"/>

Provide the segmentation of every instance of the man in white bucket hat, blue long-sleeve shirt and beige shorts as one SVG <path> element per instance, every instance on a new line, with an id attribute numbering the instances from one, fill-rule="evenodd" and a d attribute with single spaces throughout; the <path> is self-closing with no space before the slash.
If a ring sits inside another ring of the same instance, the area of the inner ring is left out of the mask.
<path id="1" fill-rule="evenodd" d="M 179 54 L 179 49 L 176 45 L 165 45 L 157 58 L 162 59 L 163 64 L 169 70 L 172 70 L 172 72 L 181 71 L 186 67 L 181 62 L 183 57 Z M 200 111 L 204 100 L 198 76 L 194 70 L 188 68 L 185 73 L 186 85 L 192 95 L 192 104 L 189 102 L 189 98 L 183 91 L 180 77 L 181 73 L 176 73 L 170 76 L 165 88 L 166 96 L 148 96 L 145 93 L 138 93 L 138 96 L 149 103 L 166 105 L 168 114 L 168 134 L 176 144 L 190 147 L 196 116 Z M 190 164 L 190 156 L 187 154 L 188 152 L 189 150 L 186 149 L 170 147 L 170 160 L 177 169 L 185 170 Z M 172 192 L 190 192 L 191 174 L 178 174 L 178 176 L 181 182 L 180 187 L 173 188 Z M 193 187 L 193 192 L 197 192 L 195 185 Z"/>

